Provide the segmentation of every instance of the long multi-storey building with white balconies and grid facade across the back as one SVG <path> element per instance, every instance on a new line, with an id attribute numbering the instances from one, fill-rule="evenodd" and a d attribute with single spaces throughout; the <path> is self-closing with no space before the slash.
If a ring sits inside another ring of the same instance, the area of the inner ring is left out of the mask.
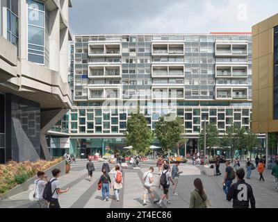
<path id="1" fill-rule="evenodd" d="M 187 152 L 205 120 L 220 135 L 232 124 L 251 127 L 251 33 L 75 35 L 72 53 L 74 105 L 49 137 L 52 153 L 125 146 L 138 107 L 152 129 L 161 114 L 181 117 Z"/>

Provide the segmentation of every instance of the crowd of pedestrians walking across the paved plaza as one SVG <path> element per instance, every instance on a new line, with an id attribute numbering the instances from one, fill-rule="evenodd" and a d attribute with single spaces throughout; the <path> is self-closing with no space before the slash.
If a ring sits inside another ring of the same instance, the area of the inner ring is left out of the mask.
<path id="1" fill-rule="evenodd" d="M 198 154 L 196 155 L 198 157 Z M 259 157 L 258 157 L 259 158 Z M 259 173 L 259 180 L 265 181 L 263 177 L 263 171 L 265 170 L 265 163 L 262 159 L 255 159 L 256 167 L 252 164 L 252 161 L 247 158 L 246 162 L 246 178 L 250 179 L 252 175 L 252 171 L 256 169 Z M 215 168 L 216 168 L 216 176 L 220 176 L 220 157 L 217 156 L 215 158 Z M 131 159 L 132 160 L 132 159 Z M 134 162 L 136 162 L 136 157 L 133 158 Z M 193 162 L 196 161 L 193 158 Z M 272 176 L 275 178 L 275 189 L 278 191 L 278 160 L 275 162 L 275 167 L 272 168 Z M 152 198 L 154 204 L 157 204 L 159 207 L 163 206 L 163 201 L 166 199 L 166 204 L 170 205 L 170 185 L 172 185 L 172 195 L 177 196 L 177 185 L 179 182 L 179 176 L 182 171 L 179 171 L 180 162 L 174 162 L 172 166 L 170 163 L 163 159 L 162 157 L 158 158 L 156 163 L 156 167 L 158 167 L 159 179 L 156 181 L 156 185 L 158 184 L 158 188 L 163 190 L 163 194 L 161 194 L 160 198 L 156 198 L 154 195 L 154 167 L 149 167 L 148 171 L 143 173 L 142 183 L 143 183 L 143 201 L 142 205 L 147 205 L 147 195 L 149 194 Z M 92 180 L 92 173 L 95 171 L 95 166 L 92 160 L 89 160 L 86 164 L 86 169 L 88 170 L 88 180 Z M 110 190 L 113 189 L 115 200 L 120 200 L 120 191 L 123 188 L 123 173 L 121 164 L 116 163 L 113 169 L 110 169 L 108 162 L 104 162 L 101 167 L 101 176 L 98 181 L 97 189 L 101 190 L 102 200 L 108 201 L 110 196 Z M 70 187 L 63 190 L 60 187 L 60 182 L 58 178 L 60 176 L 60 170 L 54 169 L 52 170 L 52 178 L 47 180 L 47 175 L 38 171 L 37 173 L 38 179 L 34 181 L 35 191 L 34 198 L 38 201 L 38 205 L 41 208 L 60 208 L 60 204 L 58 201 L 59 195 L 66 193 L 70 190 Z M 256 207 L 256 200 L 254 198 L 254 194 L 252 191 L 252 187 L 250 184 L 245 182 L 245 170 L 242 166 L 240 166 L 240 162 L 238 159 L 234 160 L 234 165 L 231 167 L 231 163 L 229 160 L 225 162 L 224 169 L 224 177 L 222 181 L 222 189 L 227 200 L 233 200 L 234 208 L 248 208 L 250 205 L 252 208 Z M 236 182 L 233 183 L 233 181 Z M 190 193 L 190 208 L 206 208 L 211 207 L 211 202 L 208 200 L 208 196 L 204 189 L 204 185 L 200 178 L 196 178 L 193 182 L 195 189 Z"/>

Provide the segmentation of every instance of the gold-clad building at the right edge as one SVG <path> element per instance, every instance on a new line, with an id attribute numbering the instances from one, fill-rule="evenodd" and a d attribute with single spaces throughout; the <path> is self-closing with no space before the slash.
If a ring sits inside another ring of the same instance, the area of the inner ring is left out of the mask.
<path id="1" fill-rule="evenodd" d="M 268 164 L 278 153 L 278 14 L 252 27 L 254 133 L 267 136 Z"/>

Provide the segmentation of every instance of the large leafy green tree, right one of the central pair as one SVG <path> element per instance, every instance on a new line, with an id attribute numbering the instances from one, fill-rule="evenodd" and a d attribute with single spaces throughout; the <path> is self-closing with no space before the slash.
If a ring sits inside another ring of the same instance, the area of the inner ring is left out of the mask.
<path id="1" fill-rule="evenodd" d="M 154 132 L 161 148 L 169 158 L 170 152 L 181 142 L 184 127 L 180 117 L 176 117 L 173 121 L 167 121 L 167 115 L 165 117 L 159 117 Z"/>

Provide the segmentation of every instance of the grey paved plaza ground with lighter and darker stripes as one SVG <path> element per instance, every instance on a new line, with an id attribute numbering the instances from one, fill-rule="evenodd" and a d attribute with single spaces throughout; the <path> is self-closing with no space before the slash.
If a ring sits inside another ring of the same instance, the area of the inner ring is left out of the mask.
<path id="1" fill-rule="evenodd" d="M 62 188 L 71 187 L 67 194 L 60 195 L 60 205 L 63 208 L 95 208 L 95 207 L 115 207 L 115 208 L 154 208 L 151 200 L 147 200 L 148 205 L 142 205 L 143 181 L 142 174 L 149 167 L 155 167 L 154 161 L 143 162 L 140 169 L 124 169 L 124 188 L 120 192 L 120 201 L 117 202 L 113 198 L 111 190 L 111 198 L 108 202 L 101 200 L 101 191 L 97 190 L 97 182 L 101 176 L 101 162 L 94 162 L 96 171 L 93 174 L 92 181 L 89 182 L 87 171 L 85 169 L 86 160 L 79 160 L 72 165 L 70 173 L 59 178 Z M 242 163 L 244 164 L 244 163 Z M 111 168 L 113 165 L 111 164 Z M 215 208 L 231 208 L 232 203 L 225 200 L 222 191 L 222 180 L 224 175 L 224 164 L 221 164 L 221 176 L 206 176 L 201 171 L 202 167 L 192 166 L 188 164 L 180 164 L 179 170 L 183 171 L 180 176 L 177 192 L 179 196 L 172 196 L 172 187 L 170 187 L 170 200 L 172 204 L 163 205 L 163 208 L 188 208 L 190 200 L 190 192 L 194 189 L 193 180 L 201 178 L 204 183 L 204 189 L 208 194 L 208 199 Z M 254 192 L 256 198 L 256 207 L 275 207 L 278 208 L 278 192 L 274 189 L 273 177 L 270 170 L 264 173 L 265 182 L 259 181 L 259 173 L 252 171 L 250 180 L 246 180 Z M 161 196 L 162 190 L 158 189 L 159 176 L 157 168 L 154 170 L 154 191 L 156 198 Z M 235 180 L 234 180 L 235 181 Z M 38 207 L 38 205 L 28 200 L 29 191 L 22 192 L 5 200 L 0 200 L 0 207 Z"/>

